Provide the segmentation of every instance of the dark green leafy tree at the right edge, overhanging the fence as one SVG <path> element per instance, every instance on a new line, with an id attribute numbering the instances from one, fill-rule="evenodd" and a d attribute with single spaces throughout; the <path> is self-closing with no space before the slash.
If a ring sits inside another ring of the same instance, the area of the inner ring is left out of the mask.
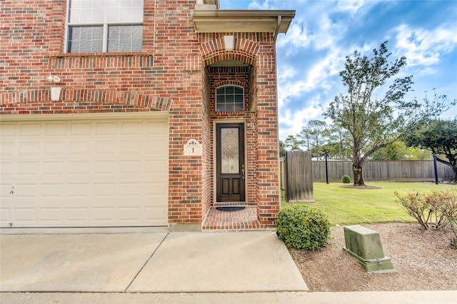
<path id="1" fill-rule="evenodd" d="M 405 138 L 408 146 L 418 146 L 437 154 L 436 161 L 450 166 L 457 183 L 457 117 L 431 121 L 418 127 Z M 447 158 L 443 159 L 443 158 Z"/>

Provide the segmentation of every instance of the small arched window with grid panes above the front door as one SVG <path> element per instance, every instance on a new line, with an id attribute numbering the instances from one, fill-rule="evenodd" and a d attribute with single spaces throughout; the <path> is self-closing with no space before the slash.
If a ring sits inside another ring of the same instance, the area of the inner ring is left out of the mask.
<path id="1" fill-rule="evenodd" d="M 241 86 L 221 86 L 216 89 L 216 111 L 244 111 L 244 92 Z"/>

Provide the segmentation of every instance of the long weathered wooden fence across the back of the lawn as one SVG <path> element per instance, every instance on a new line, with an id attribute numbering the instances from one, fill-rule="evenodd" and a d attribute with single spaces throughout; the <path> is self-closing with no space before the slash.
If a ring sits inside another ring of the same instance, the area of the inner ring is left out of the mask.
<path id="1" fill-rule="evenodd" d="M 351 176 L 352 161 L 327 161 L 328 180 L 341 181 L 343 175 Z M 325 161 L 313 161 L 313 180 L 326 181 Z M 438 180 L 446 181 L 453 178 L 450 166 L 437 163 Z M 435 168 L 433 161 L 366 161 L 363 165 L 365 181 L 433 181 Z"/>

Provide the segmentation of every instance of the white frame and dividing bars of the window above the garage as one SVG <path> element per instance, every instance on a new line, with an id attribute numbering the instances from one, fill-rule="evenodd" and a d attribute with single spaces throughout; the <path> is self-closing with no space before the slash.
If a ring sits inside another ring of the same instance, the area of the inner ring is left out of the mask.
<path id="1" fill-rule="evenodd" d="M 109 26 L 119 26 L 119 25 L 141 25 L 144 24 L 144 19 L 141 22 L 108 22 L 108 7 L 109 7 L 109 0 L 104 0 L 104 21 L 103 22 L 96 22 L 96 23 L 71 23 L 69 22 L 70 16 L 70 1 L 67 3 L 66 6 L 66 16 L 65 16 L 65 43 L 64 43 L 64 53 L 68 54 L 78 54 L 78 53 L 71 53 L 69 51 L 69 32 L 71 26 L 103 26 L 103 37 L 102 37 L 102 48 L 101 52 L 106 53 L 108 51 L 108 27 Z M 143 14 L 144 14 L 144 2 L 143 2 Z M 144 16 L 144 15 L 143 15 Z"/>

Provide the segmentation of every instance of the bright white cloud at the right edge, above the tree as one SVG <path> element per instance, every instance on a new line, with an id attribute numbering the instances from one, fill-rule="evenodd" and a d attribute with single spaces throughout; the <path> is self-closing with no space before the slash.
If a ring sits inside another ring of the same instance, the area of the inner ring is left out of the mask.
<path id="1" fill-rule="evenodd" d="M 441 54 L 453 51 L 457 46 L 455 31 L 446 27 L 427 31 L 402 24 L 394 31 L 397 53 L 406 56 L 408 66 L 436 65 L 440 61 Z"/>

